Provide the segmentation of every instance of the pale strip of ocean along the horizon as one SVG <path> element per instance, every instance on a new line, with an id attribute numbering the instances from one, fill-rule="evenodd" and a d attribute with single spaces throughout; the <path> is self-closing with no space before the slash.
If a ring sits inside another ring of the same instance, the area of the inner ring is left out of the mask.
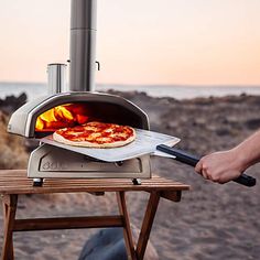
<path id="1" fill-rule="evenodd" d="M 260 95 L 260 86 L 180 86 L 180 85 L 101 85 L 97 91 L 115 89 L 120 91 L 144 91 L 152 97 L 191 99 L 196 97 L 223 97 L 227 95 Z M 47 95 L 47 85 L 42 83 L 0 83 L 0 98 L 25 93 L 29 100 Z"/>

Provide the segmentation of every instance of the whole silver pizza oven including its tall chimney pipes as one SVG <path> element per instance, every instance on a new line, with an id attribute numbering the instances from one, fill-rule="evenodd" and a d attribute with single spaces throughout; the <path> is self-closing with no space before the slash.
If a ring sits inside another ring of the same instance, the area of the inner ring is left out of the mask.
<path id="1" fill-rule="evenodd" d="M 149 130 L 148 117 L 138 106 L 119 96 L 94 93 L 96 11 L 96 0 L 72 0 L 69 84 L 65 84 L 66 65 L 50 64 L 50 95 L 29 101 L 11 116 L 10 133 L 40 141 L 28 165 L 34 185 L 42 185 L 45 177 L 151 177 L 150 155 L 106 162 L 41 141 L 59 128 L 88 121 Z"/>

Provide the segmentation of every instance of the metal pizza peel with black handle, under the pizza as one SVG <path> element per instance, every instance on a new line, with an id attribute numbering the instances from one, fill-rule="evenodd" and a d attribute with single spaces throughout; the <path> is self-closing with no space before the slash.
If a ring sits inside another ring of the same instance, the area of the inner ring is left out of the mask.
<path id="1" fill-rule="evenodd" d="M 41 139 L 40 141 L 73 152 L 82 153 L 84 155 L 95 158 L 105 162 L 120 162 L 133 158 L 139 158 L 144 154 L 172 158 L 191 166 L 195 166 L 199 161 L 199 158 L 197 156 L 172 148 L 181 141 L 181 139 L 178 138 L 143 129 L 136 129 L 136 133 L 137 138 L 133 142 L 124 147 L 107 149 L 82 148 L 63 144 L 53 140 L 52 134 Z M 256 178 L 243 173 L 238 178 L 234 180 L 234 182 L 249 187 L 256 185 Z"/>

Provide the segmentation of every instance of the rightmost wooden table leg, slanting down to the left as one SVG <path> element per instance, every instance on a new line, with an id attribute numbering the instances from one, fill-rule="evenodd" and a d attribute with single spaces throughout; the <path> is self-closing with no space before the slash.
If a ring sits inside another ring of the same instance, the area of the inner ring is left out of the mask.
<path id="1" fill-rule="evenodd" d="M 137 245 L 138 260 L 142 260 L 148 246 L 148 240 L 152 229 L 153 219 L 155 217 L 158 205 L 160 202 L 160 192 L 152 192 L 148 202 L 147 212 L 142 221 L 142 228 Z"/>

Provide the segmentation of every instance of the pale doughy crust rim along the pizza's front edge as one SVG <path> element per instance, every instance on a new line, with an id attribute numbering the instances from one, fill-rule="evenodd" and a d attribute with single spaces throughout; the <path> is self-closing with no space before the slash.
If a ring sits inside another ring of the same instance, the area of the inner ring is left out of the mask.
<path id="1" fill-rule="evenodd" d="M 123 147 L 127 145 L 128 143 L 131 143 L 132 141 L 136 140 L 136 131 L 133 128 L 128 127 L 129 129 L 132 130 L 132 136 L 129 137 L 128 139 L 123 140 L 123 141 L 115 141 L 115 142 L 107 142 L 106 141 L 104 143 L 97 143 L 97 142 L 88 142 L 88 141 L 71 141 L 68 139 L 65 139 L 63 136 L 61 136 L 59 133 L 57 133 L 56 131 L 53 133 L 53 139 L 56 142 L 61 142 L 67 145 L 74 145 L 74 147 L 84 147 L 84 148 L 119 148 L 119 147 Z M 106 138 L 104 138 L 106 139 Z"/>

